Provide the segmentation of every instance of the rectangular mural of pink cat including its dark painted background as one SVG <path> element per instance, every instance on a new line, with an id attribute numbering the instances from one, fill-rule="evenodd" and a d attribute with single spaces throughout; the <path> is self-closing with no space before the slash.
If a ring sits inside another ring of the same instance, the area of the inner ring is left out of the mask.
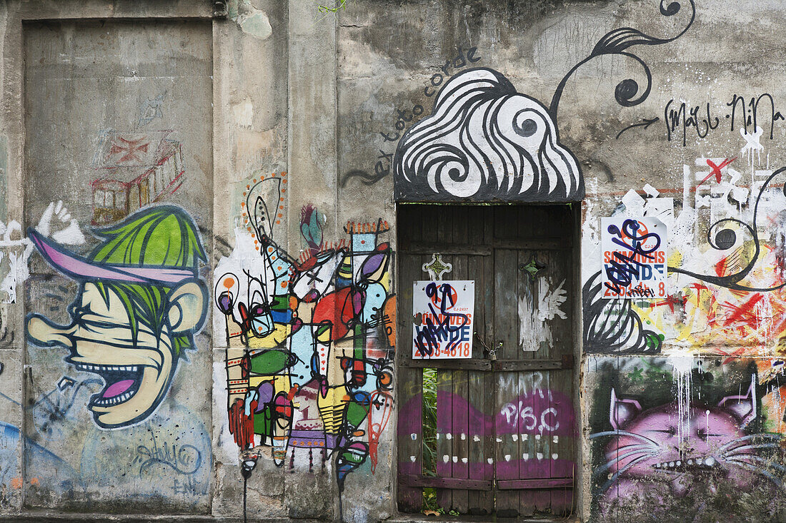
<path id="1" fill-rule="evenodd" d="M 718 503 L 726 521 L 774 518 L 786 477 L 784 404 L 773 402 L 783 362 L 774 373 L 763 363 L 590 360 L 593 521 L 704 521 Z"/>

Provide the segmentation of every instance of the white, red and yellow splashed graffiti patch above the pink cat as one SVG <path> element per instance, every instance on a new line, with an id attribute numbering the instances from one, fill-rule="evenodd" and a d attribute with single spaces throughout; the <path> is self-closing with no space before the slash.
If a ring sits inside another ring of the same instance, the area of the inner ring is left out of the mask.
<path id="1" fill-rule="evenodd" d="M 646 198 L 635 191 L 623 197 L 615 215 L 657 216 L 673 230 L 668 295 L 604 299 L 599 273 L 589 277 L 583 288 L 587 352 L 660 353 L 667 347 L 725 355 L 783 352 L 786 168 L 752 163 L 740 172 L 724 160 L 729 159 L 696 159 L 695 171 L 685 166 L 676 217 L 674 198 L 652 187 Z"/>

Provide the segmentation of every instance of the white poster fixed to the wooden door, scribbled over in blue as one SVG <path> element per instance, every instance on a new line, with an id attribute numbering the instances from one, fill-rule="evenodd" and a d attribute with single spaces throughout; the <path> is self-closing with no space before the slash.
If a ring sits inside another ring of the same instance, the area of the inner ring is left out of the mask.
<path id="1" fill-rule="evenodd" d="M 412 294 L 412 357 L 472 357 L 475 281 L 416 281 Z"/>

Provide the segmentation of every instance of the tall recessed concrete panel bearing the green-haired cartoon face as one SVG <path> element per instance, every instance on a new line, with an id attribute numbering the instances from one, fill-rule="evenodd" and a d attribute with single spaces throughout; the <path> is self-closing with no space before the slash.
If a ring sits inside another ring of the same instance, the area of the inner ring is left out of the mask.
<path id="1" fill-rule="evenodd" d="M 75 12 L 72 3 L 64 13 Z M 206 11 L 195 10 L 201 19 L 143 18 L 152 11 L 170 12 L 170 2 L 160 2 L 160 9 L 145 9 L 144 3 L 129 2 L 123 9 L 126 16 L 137 15 L 131 20 L 22 25 L 24 222 L 58 248 L 87 258 L 106 239 L 119 237 L 107 232 L 114 236 L 98 238 L 91 232 L 127 231 L 134 241 L 116 245 L 134 247 L 118 247 L 101 259 L 148 271 L 178 264 L 193 270 L 201 280 L 194 285 L 204 288 L 204 294 L 189 294 L 195 298 L 193 310 L 209 299 L 213 259 L 213 28 Z M 86 7 L 85 13 L 96 12 L 100 9 Z M 175 232 L 167 236 L 165 227 Z M 127 296 L 133 296 L 126 303 L 134 304 L 126 308 L 108 305 L 119 303 L 109 298 L 115 291 L 105 291 L 105 301 L 90 298 L 99 288 L 96 283 L 108 288 L 110 280 L 101 279 L 105 272 L 96 269 L 93 276 L 54 269 L 39 250 L 31 255 L 30 272 L 24 283 L 25 313 L 45 318 L 47 325 L 99 334 L 79 335 L 95 340 L 79 352 L 85 344 L 76 334 L 73 351 L 62 343 L 46 346 L 57 339 L 55 327 L 43 329 L 50 338 L 35 342 L 30 329 L 28 340 L 24 329 L 17 332 L 26 369 L 24 454 L 20 474 L 9 477 L 24 480 L 23 507 L 209 514 L 214 474 L 210 320 L 202 322 L 200 333 L 183 331 L 177 349 L 168 351 L 172 345 L 160 327 L 166 322 L 136 319 L 155 310 L 156 300 L 171 304 L 165 300 L 174 295 L 174 283 L 150 280 L 134 288 L 124 282 L 131 289 Z M 104 309 L 101 303 L 107 304 Z M 106 311 L 102 316 L 101 310 Z M 144 335 L 134 340 L 133 335 L 109 334 L 123 328 L 148 329 L 152 335 L 145 345 L 139 341 Z M 150 361 L 155 363 L 134 360 L 144 351 L 154 355 Z M 149 386 L 145 376 L 159 369 L 171 379 Z"/>

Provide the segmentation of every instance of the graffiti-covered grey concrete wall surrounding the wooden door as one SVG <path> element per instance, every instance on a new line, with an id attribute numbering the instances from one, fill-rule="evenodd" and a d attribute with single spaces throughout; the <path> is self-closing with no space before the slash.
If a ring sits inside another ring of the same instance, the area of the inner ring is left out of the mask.
<path id="1" fill-rule="evenodd" d="M 582 201 L 582 518 L 782 518 L 783 6 L 324 7 L 0 5 L 3 514 L 395 514 L 398 198 Z"/>

